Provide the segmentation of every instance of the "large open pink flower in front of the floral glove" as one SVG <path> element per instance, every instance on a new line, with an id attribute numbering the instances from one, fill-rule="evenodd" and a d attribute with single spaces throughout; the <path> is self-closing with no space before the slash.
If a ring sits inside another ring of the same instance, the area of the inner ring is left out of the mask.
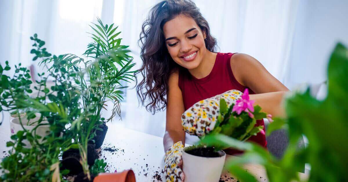
<path id="1" fill-rule="evenodd" d="M 242 95 L 242 99 L 236 101 L 236 105 L 233 106 L 232 112 L 237 112 L 237 114 L 240 114 L 242 111 L 245 111 L 249 114 L 251 118 L 254 117 L 253 113 L 254 112 L 254 100 L 250 100 L 249 98 L 249 91 L 246 88 L 244 90 L 244 93 Z"/>

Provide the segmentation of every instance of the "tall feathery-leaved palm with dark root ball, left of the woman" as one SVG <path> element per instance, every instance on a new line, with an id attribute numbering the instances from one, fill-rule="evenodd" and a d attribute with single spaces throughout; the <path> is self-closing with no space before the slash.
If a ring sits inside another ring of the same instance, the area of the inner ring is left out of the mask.
<path id="1" fill-rule="evenodd" d="M 83 107 L 87 108 L 91 102 L 97 102 L 96 108 L 90 108 L 89 112 L 100 115 L 107 106 L 107 101 L 113 102 L 111 116 L 103 121 L 96 122 L 98 127 L 92 130 L 92 140 L 90 142 L 96 144 L 96 148 L 100 148 L 108 126 L 106 122 L 112 121 L 116 114 L 120 115 L 120 101 L 124 94 L 120 89 L 126 88 L 121 81 L 130 82 L 135 78 L 136 71 L 130 71 L 135 63 L 132 63 L 133 57 L 127 55 L 130 52 L 129 46 L 121 45 L 121 38 L 117 36 L 121 32 L 116 32 L 117 27 L 114 24 L 104 25 L 97 18 L 98 24 L 90 26 L 94 33 L 89 33 L 94 42 L 87 46 L 84 55 L 95 61 L 85 60 L 73 54 L 65 54 L 62 59 L 65 63 L 62 65 L 66 71 L 79 71 L 75 78 L 76 88 L 82 94 Z M 42 63 L 49 64 L 54 62 L 54 57 L 42 60 Z M 49 71 L 53 71 L 49 69 Z M 134 81 L 134 80 L 133 80 Z"/>

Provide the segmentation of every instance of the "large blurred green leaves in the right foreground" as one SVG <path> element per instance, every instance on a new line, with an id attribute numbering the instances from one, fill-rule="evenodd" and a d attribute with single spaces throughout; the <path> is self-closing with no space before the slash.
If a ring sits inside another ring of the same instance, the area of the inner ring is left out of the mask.
<path id="1" fill-rule="evenodd" d="M 348 181 L 348 50 L 341 43 L 330 57 L 328 79 L 324 100 L 311 96 L 309 88 L 304 93 L 294 93 L 285 101 L 287 118 L 275 119 L 270 124 L 271 130 L 288 130 L 289 145 L 282 159 L 274 158 L 258 145 L 221 134 L 207 136 L 202 142 L 245 150 L 241 158 L 226 165 L 241 181 L 255 180 L 240 167 L 245 163 L 263 165 L 269 181 L 301 181 L 298 171 L 304 163 L 311 166 L 308 181 Z M 302 135 L 307 137 L 308 146 L 298 149 Z"/>

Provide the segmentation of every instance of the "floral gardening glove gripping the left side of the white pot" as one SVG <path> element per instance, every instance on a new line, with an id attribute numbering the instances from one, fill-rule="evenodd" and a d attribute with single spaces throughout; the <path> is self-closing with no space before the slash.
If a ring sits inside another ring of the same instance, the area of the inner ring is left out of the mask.
<path id="1" fill-rule="evenodd" d="M 182 150 L 184 145 L 182 142 L 176 142 L 170 147 L 164 157 L 164 172 L 166 173 L 166 181 L 180 182 L 184 181 L 184 173 L 182 172 Z"/>

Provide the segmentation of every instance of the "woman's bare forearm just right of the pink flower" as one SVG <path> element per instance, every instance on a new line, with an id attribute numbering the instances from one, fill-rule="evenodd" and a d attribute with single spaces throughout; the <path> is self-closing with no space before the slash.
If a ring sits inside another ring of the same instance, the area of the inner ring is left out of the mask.
<path id="1" fill-rule="evenodd" d="M 251 94 L 250 100 L 255 100 L 254 105 L 260 105 L 263 112 L 276 117 L 285 117 L 283 98 L 286 92 L 270 92 L 263 94 Z"/>

